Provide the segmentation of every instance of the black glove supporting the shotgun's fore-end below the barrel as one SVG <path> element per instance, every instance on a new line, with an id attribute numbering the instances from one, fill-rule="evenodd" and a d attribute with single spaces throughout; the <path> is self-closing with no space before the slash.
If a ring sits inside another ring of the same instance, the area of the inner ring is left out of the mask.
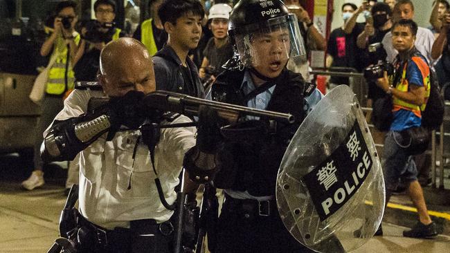
<path id="1" fill-rule="evenodd" d="M 215 153 L 222 146 L 223 136 L 220 127 L 224 120 L 215 109 L 208 106 L 199 107 L 197 122 L 197 148 L 203 153 Z"/>

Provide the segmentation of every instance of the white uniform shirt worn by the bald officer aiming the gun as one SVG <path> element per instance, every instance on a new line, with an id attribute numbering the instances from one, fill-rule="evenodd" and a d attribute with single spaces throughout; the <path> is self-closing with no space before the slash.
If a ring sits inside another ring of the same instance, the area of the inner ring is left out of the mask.
<path id="1" fill-rule="evenodd" d="M 55 120 L 86 113 L 89 99 L 96 93 L 73 91 Z M 168 124 L 185 122 L 190 119 L 181 115 Z M 179 184 L 184 154 L 195 145 L 196 131 L 195 127 L 161 130 L 154 162 L 169 204 L 177 198 L 174 187 Z M 143 218 L 153 218 L 158 223 L 168 221 L 173 212 L 161 204 L 150 151 L 138 141 L 140 131 L 119 131 L 111 141 L 106 141 L 106 135 L 80 152 L 80 213 L 107 229 L 129 227 L 129 221 Z"/>

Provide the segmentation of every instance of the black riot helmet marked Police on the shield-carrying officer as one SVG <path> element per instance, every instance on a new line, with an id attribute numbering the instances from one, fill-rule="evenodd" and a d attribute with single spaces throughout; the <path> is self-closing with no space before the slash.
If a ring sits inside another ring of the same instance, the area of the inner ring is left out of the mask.
<path id="1" fill-rule="evenodd" d="M 261 34 L 284 31 L 287 35 L 284 50 L 287 58 L 305 55 L 296 15 L 290 14 L 280 0 L 240 0 L 228 19 L 228 37 L 244 65 L 258 65 L 258 52 L 252 47 Z"/>

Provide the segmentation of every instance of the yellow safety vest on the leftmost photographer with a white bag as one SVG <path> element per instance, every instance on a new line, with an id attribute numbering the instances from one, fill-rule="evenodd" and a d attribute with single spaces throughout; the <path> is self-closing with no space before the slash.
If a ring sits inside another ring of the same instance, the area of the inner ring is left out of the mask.
<path id="1" fill-rule="evenodd" d="M 75 44 L 80 43 L 80 35 L 77 33 L 75 35 Z M 57 54 L 55 64 L 48 71 L 48 81 L 46 86 L 46 93 L 51 95 L 62 95 L 65 91 L 73 89 L 73 82 L 75 80 L 74 73 L 72 71 L 72 66 L 70 63 L 70 53 L 67 50 L 67 46 L 64 43 L 62 37 L 58 37 L 54 44 L 53 54 Z M 69 55 L 69 57 L 68 57 Z M 69 64 L 66 64 L 69 58 Z M 67 70 L 67 86 L 65 82 Z"/>

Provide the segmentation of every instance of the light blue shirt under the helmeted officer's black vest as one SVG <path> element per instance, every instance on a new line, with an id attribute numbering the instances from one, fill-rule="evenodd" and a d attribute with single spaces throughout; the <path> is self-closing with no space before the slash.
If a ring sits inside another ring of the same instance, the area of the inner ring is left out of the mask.
<path id="1" fill-rule="evenodd" d="M 273 90 L 275 89 L 276 85 L 272 86 L 271 88 L 269 88 L 267 91 L 264 91 L 258 95 L 256 95 L 256 97 L 253 97 L 251 100 L 249 100 L 249 102 L 247 102 L 247 106 L 254 108 L 254 109 L 261 109 L 261 110 L 265 110 L 267 109 L 267 106 L 269 105 L 269 101 L 272 97 L 273 94 Z M 244 92 L 245 95 L 251 93 L 251 91 L 253 91 L 255 89 L 255 84 L 253 84 L 253 80 L 251 79 L 250 73 L 248 71 L 246 71 L 246 73 L 244 74 L 244 79 L 242 80 L 242 85 L 241 85 L 241 89 Z M 316 104 L 322 99 L 323 94 L 318 91 L 318 89 L 314 89 L 314 91 L 312 92 L 311 95 L 309 95 L 308 97 L 305 97 L 305 104 L 303 106 L 303 110 L 305 110 L 305 113 L 309 113 L 310 111 L 312 111 L 312 109 L 314 109 L 314 106 L 316 106 Z M 207 100 L 211 100 L 211 92 L 208 92 L 208 95 L 206 95 L 206 99 Z M 251 120 L 251 119 L 255 119 L 255 117 L 253 116 L 247 116 L 246 117 L 247 120 Z M 235 191 L 232 189 L 225 189 L 224 190 L 226 192 L 226 194 L 230 195 L 232 198 L 240 198 L 240 199 L 244 199 L 244 198 L 251 198 L 251 199 L 256 199 L 256 200 L 269 200 L 269 199 L 273 199 L 274 196 L 252 196 L 251 194 L 249 194 L 248 191 Z"/>

